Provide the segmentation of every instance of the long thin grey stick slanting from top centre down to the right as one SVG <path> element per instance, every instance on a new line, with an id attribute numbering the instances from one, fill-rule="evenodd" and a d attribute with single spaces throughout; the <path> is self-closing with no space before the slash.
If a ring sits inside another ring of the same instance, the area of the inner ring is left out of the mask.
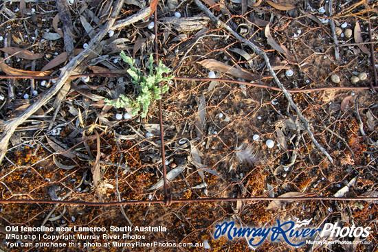
<path id="1" fill-rule="evenodd" d="M 309 136 L 311 137 L 311 140 L 313 141 L 313 143 L 315 144 L 315 146 L 318 147 L 318 149 L 329 159 L 329 161 L 331 161 L 331 163 L 333 163 L 332 157 L 328 154 L 328 152 L 326 152 L 326 150 L 324 150 L 324 148 L 322 148 L 322 146 L 320 146 L 320 144 L 318 143 L 318 141 L 313 136 L 313 133 L 311 132 L 311 129 L 310 129 L 310 126 L 309 126 L 309 122 L 307 122 L 307 119 L 304 118 L 304 116 L 302 115 L 302 112 L 300 112 L 300 109 L 298 108 L 298 106 L 296 106 L 296 104 L 291 99 L 290 93 L 287 91 L 287 89 L 285 89 L 285 87 L 282 85 L 282 83 L 280 82 L 280 80 L 278 80 L 278 78 L 276 76 L 276 73 L 274 72 L 274 70 L 272 69 L 272 67 L 270 65 L 269 58 L 268 58 L 267 54 L 265 53 L 265 51 L 263 51 L 260 48 L 258 48 L 251 41 L 247 41 L 247 39 L 243 38 L 237 32 L 235 32 L 234 30 L 232 30 L 232 28 L 230 26 L 226 25 L 225 23 L 223 23 L 222 21 L 220 21 L 219 19 L 217 19 L 212 14 L 212 12 L 210 12 L 210 10 L 208 10 L 208 8 L 206 8 L 205 5 L 203 5 L 199 0 L 194 0 L 194 2 L 197 4 L 197 6 L 203 12 L 205 12 L 206 15 L 208 15 L 210 17 L 210 20 L 212 21 L 212 23 L 214 23 L 214 25 L 216 25 L 216 27 L 223 28 L 227 32 L 230 32 L 230 34 L 232 34 L 232 36 L 234 36 L 239 41 L 242 41 L 243 43 L 245 43 L 246 45 L 248 45 L 249 47 L 251 47 L 251 49 L 254 50 L 254 52 L 256 52 L 256 54 L 258 54 L 258 56 L 262 57 L 265 60 L 265 64 L 267 65 L 267 68 L 269 69 L 269 73 L 273 77 L 274 82 L 276 82 L 276 84 L 278 85 L 278 87 L 281 89 L 282 93 L 284 93 L 285 98 L 289 102 L 291 108 L 293 108 L 293 110 L 296 111 L 298 117 L 300 118 L 300 120 L 302 121 L 304 127 L 306 128 L 307 133 L 309 133 Z"/>

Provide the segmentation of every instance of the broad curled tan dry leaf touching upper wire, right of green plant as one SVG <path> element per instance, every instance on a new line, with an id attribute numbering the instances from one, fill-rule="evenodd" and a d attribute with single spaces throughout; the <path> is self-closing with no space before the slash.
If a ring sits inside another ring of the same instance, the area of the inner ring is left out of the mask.
<path id="1" fill-rule="evenodd" d="M 249 73 L 244 69 L 237 69 L 236 67 L 231 67 L 218 60 L 208 59 L 199 62 L 203 67 L 210 69 L 211 71 L 219 71 L 221 73 L 228 73 L 237 78 L 243 78 L 245 80 L 258 80 L 258 75 L 254 73 Z"/>

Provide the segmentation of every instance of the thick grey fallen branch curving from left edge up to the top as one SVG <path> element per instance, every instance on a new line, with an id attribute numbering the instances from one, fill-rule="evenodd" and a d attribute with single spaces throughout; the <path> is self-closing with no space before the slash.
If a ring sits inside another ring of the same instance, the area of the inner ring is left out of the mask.
<path id="1" fill-rule="evenodd" d="M 14 130 L 25 122 L 27 118 L 29 118 L 31 115 L 36 113 L 41 106 L 45 105 L 65 84 L 66 80 L 69 78 L 69 76 L 74 73 L 74 69 L 84 60 L 91 52 L 95 49 L 95 47 L 98 46 L 102 38 L 107 35 L 107 32 L 111 29 L 115 22 L 115 18 L 118 16 L 122 5 L 124 3 L 124 0 L 119 0 L 115 2 L 115 8 L 113 9 L 113 12 L 111 13 L 111 19 L 107 21 L 107 23 L 102 27 L 100 32 L 94 36 L 94 38 L 91 39 L 89 42 L 89 45 L 87 49 L 82 51 L 80 54 L 78 54 L 76 57 L 72 58 L 72 60 L 69 61 L 65 67 L 63 67 L 60 71 L 60 76 L 58 79 L 58 82 L 54 84 L 40 99 L 38 99 L 34 104 L 29 106 L 26 111 L 24 111 L 19 117 L 16 119 L 5 122 L 3 127 L 3 133 L 1 134 L 1 140 L 0 140 L 0 163 L 3 161 L 5 157 L 5 153 L 8 150 L 8 143 L 10 137 L 12 137 Z"/>

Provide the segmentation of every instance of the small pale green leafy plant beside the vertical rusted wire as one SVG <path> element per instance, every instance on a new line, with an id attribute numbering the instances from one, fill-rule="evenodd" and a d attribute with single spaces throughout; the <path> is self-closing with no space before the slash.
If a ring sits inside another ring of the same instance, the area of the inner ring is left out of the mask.
<path id="1" fill-rule="evenodd" d="M 154 71 L 152 54 L 148 59 L 148 76 L 134 66 L 135 60 L 126 56 L 124 51 L 121 51 L 120 56 L 130 67 L 127 69 L 127 73 L 131 76 L 131 82 L 135 84 L 137 98 L 128 98 L 121 94 L 117 100 L 105 99 L 105 102 L 111 106 L 115 106 L 115 108 L 132 108 L 132 116 L 137 115 L 142 109 L 141 116 L 146 117 L 148 106 L 150 106 L 151 102 L 153 102 L 153 100 L 162 99 L 162 93 L 165 93 L 169 89 L 168 84 L 159 87 L 159 83 L 172 80 L 174 76 L 169 75 L 171 70 L 166 67 L 161 60 L 159 60 L 159 65 L 155 67 Z"/>

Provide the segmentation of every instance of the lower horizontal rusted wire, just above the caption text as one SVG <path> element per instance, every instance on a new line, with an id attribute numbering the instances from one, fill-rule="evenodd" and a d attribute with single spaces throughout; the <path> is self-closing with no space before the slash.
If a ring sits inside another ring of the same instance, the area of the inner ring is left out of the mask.
<path id="1" fill-rule="evenodd" d="M 111 207 L 119 205 L 143 205 L 173 203 L 204 203 L 204 202 L 232 202 L 232 201 L 378 201 L 378 197 L 245 197 L 245 198 L 186 198 L 156 201 L 118 201 L 118 202 L 87 202 L 87 201 L 50 201 L 50 200 L 0 200 L 0 204 L 63 204 Z"/>

